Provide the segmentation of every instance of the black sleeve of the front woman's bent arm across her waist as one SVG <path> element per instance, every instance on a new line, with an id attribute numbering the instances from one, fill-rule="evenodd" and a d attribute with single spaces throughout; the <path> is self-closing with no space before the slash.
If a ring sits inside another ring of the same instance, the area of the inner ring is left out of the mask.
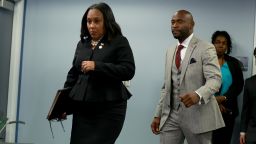
<path id="1" fill-rule="evenodd" d="M 95 61 L 95 72 L 103 73 L 114 80 L 130 80 L 135 74 L 134 57 L 128 40 L 120 36 L 113 39 L 112 46 L 115 47 L 115 61 Z"/>

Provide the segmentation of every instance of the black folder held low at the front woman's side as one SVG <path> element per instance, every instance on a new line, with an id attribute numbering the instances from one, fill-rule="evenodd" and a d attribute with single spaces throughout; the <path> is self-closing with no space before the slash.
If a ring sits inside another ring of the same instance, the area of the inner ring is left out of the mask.
<path id="1" fill-rule="evenodd" d="M 66 119 L 63 114 L 72 114 L 73 100 L 69 97 L 69 93 L 72 88 L 63 88 L 57 90 L 57 94 L 52 102 L 52 106 L 48 112 L 47 119 L 62 121 Z"/>

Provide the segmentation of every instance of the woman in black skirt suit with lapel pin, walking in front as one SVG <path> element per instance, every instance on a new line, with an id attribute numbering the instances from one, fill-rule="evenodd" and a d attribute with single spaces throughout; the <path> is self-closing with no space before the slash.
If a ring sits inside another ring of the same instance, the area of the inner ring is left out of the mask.
<path id="1" fill-rule="evenodd" d="M 74 100 L 71 144 L 114 144 L 131 94 L 122 81 L 135 74 L 134 57 L 106 3 L 90 6 L 81 23 L 64 87 Z"/>

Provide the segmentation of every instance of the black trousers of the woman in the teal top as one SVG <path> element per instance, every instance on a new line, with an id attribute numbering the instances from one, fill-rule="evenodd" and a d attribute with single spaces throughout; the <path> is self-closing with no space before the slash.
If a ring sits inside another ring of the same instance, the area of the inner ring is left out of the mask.
<path id="1" fill-rule="evenodd" d="M 230 144 L 231 142 L 235 117 L 230 114 L 222 114 L 222 117 L 226 126 L 213 131 L 212 144 Z"/>

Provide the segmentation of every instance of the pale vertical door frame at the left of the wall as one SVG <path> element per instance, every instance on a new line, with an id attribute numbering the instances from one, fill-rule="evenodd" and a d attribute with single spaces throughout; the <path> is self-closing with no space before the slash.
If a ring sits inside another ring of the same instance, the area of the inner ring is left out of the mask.
<path id="1" fill-rule="evenodd" d="M 7 102 L 8 121 L 19 121 L 19 90 L 22 62 L 23 25 L 25 1 L 16 1 L 13 12 L 12 43 L 10 57 L 9 90 Z M 17 141 L 18 123 L 6 126 L 5 141 L 14 143 Z"/>

